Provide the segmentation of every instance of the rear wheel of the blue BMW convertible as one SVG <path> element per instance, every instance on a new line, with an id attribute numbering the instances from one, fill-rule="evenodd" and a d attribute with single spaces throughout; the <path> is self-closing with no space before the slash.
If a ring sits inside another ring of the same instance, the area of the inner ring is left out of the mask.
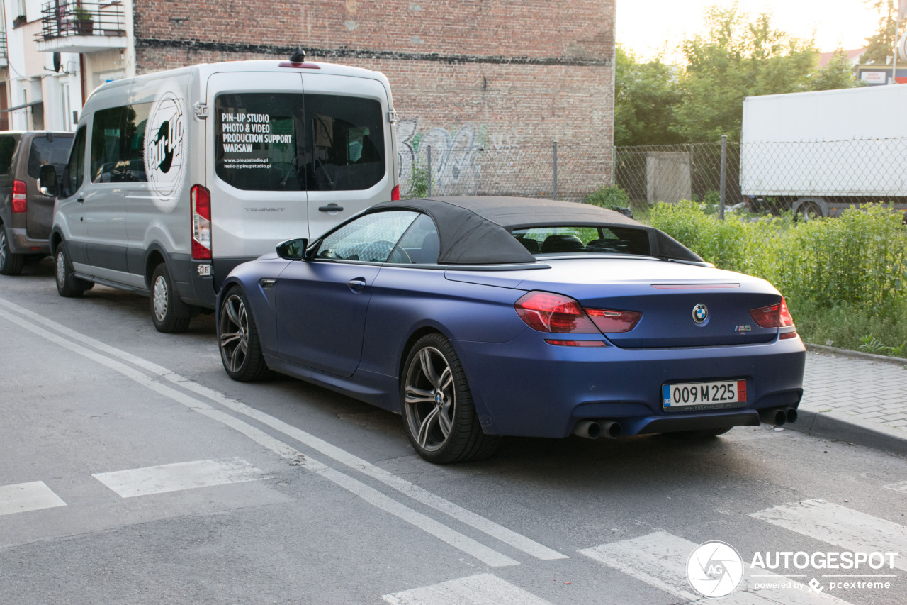
<path id="1" fill-rule="evenodd" d="M 400 401 L 406 436 L 426 461 L 482 460 L 498 447 L 500 438 L 482 430 L 463 365 L 441 334 L 422 337 L 406 357 Z"/>

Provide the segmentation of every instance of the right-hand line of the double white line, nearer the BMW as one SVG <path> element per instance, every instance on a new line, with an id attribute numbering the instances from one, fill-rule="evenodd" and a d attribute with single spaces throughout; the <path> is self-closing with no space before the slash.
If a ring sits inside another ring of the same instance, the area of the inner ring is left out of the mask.
<path id="1" fill-rule="evenodd" d="M 482 515 L 474 513 L 473 511 L 468 511 L 463 507 L 454 504 L 452 501 L 448 501 L 431 491 L 427 491 L 424 488 L 415 485 L 410 481 L 406 481 L 405 479 L 397 477 L 394 474 L 385 471 L 384 469 L 381 469 L 374 464 L 351 454 L 346 450 L 342 450 L 334 445 L 331 445 L 327 441 L 319 439 L 306 431 L 297 429 L 296 427 L 286 422 L 279 421 L 278 419 L 274 418 L 273 416 L 269 416 L 264 412 L 259 412 L 258 410 L 249 407 L 249 405 L 246 405 L 243 402 L 239 402 L 224 395 L 222 392 L 209 389 L 208 387 L 203 386 L 198 382 L 192 382 L 189 379 L 180 376 L 180 374 L 171 372 L 167 368 L 164 368 L 154 362 L 149 362 L 148 360 L 142 359 L 141 357 L 133 355 L 132 353 L 112 347 L 109 344 L 85 336 L 80 332 L 75 332 L 74 330 L 67 328 L 66 326 L 58 322 L 49 320 L 46 317 L 43 317 L 35 312 L 31 312 L 28 309 L 20 307 L 13 302 L 9 302 L 0 298 L 0 306 L 9 308 L 18 316 L 29 317 L 34 322 L 43 323 L 49 328 L 52 328 L 54 332 L 65 334 L 75 339 L 77 342 L 82 342 L 83 344 L 90 345 L 95 349 L 106 352 L 117 359 L 130 362 L 143 370 L 155 373 L 168 380 L 169 382 L 178 384 L 180 387 L 186 389 L 187 391 L 194 392 L 203 397 L 206 397 L 212 402 L 218 402 L 220 405 L 223 405 L 233 412 L 239 412 L 255 421 L 261 422 L 262 424 L 280 431 L 288 437 L 299 441 L 300 443 L 305 443 L 307 447 L 325 454 L 328 458 L 332 458 L 342 464 L 345 464 L 351 469 L 360 471 L 368 475 L 369 477 L 372 477 L 376 481 L 381 481 L 382 483 L 385 483 L 385 485 L 394 488 L 396 491 L 404 493 L 406 496 L 409 496 L 415 501 L 421 502 L 422 504 L 429 506 L 436 511 L 444 512 L 444 514 L 449 515 L 453 519 L 469 525 L 475 530 L 482 531 L 483 533 L 492 536 L 494 539 L 512 546 L 512 548 L 514 549 L 522 550 L 526 554 L 529 554 L 536 559 L 556 560 L 569 558 L 567 555 L 562 554 L 557 550 L 550 549 L 547 546 L 540 544 L 539 542 L 532 541 L 530 538 L 523 536 L 516 531 L 509 530 L 502 525 L 483 517 Z"/>

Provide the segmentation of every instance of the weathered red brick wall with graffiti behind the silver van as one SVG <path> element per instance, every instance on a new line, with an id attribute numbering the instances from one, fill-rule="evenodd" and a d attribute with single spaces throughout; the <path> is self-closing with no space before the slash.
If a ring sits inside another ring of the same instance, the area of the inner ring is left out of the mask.
<path id="1" fill-rule="evenodd" d="M 431 144 L 443 193 L 551 195 L 557 140 L 576 197 L 610 183 L 614 1 L 134 0 L 136 69 L 304 48 L 387 75 L 404 181 Z"/>

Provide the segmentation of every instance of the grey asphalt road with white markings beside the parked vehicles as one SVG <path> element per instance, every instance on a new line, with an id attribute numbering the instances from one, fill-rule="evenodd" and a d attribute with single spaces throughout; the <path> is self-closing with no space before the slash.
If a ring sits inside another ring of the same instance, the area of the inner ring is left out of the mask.
<path id="1" fill-rule="evenodd" d="M 719 602 L 907 601 L 892 454 L 737 428 L 433 466 L 395 414 L 230 381 L 212 317 L 155 332 L 134 294 L 60 298 L 48 262 L 0 277 L 0 369 L 3 604 L 682 603 L 710 541 L 742 560 L 700 565 L 706 591 L 742 572 Z"/>

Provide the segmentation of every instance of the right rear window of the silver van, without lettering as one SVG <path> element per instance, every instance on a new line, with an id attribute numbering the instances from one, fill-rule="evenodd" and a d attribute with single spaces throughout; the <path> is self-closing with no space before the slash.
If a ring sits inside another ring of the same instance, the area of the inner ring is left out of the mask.
<path id="1" fill-rule="evenodd" d="M 306 94 L 310 191 L 368 189 L 385 175 L 385 132 L 375 99 Z"/>

